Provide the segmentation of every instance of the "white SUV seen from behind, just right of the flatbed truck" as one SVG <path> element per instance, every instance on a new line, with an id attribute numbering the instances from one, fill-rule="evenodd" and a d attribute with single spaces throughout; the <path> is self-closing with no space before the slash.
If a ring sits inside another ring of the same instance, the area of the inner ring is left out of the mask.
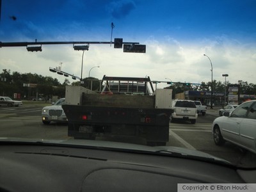
<path id="1" fill-rule="evenodd" d="M 195 102 L 193 100 L 173 100 L 173 113 L 170 116 L 171 122 L 175 119 L 189 120 L 191 124 L 196 123 L 198 116 Z"/>

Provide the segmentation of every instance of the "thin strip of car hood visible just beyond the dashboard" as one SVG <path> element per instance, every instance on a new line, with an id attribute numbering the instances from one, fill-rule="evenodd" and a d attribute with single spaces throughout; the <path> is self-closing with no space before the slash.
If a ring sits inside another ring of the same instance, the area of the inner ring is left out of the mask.
<path id="1" fill-rule="evenodd" d="M 132 143 L 118 143 L 113 141 L 95 141 L 95 140 L 36 140 L 27 138 L 0 138 L 1 142 L 12 142 L 12 143 L 29 143 L 31 145 L 57 145 L 65 147 L 79 147 L 79 148 L 97 148 L 100 150 L 117 150 L 122 152 L 136 152 L 136 153 L 149 153 L 156 155 L 164 155 L 171 157 L 182 157 L 188 159 L 195 159 L 200 161 L 207 161 L 210 163 L 221 163 L 232 166 L 232 164 L 224 159 L 212 156 L 205 152 L 198 150 L 191 150 L 182 147 L 171 147 L 171 146 L 156 146 L 150 147 L 146 145 L 137 145 Z"/>

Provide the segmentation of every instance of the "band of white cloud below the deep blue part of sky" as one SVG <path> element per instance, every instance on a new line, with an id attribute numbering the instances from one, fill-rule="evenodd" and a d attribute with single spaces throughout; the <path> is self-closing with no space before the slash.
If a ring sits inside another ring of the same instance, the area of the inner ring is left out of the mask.
<path id="1" fill-rule="evenodd" d="M 201 83 L 211 81 L 211 65 L 204 56 L 211 58 L 213 79 L 224 81 L 222 74 L 228 74 L 230 83 L 238 80 L 256 83 L 256 49 L 249 44 L 236 40 L 219 38 L 202 40 L 194 44 L 184 44 L 173 38 L 159 42 L 150 38 L 145 42 L 147 53 L 125 53 L 114 49 L 113 45 L 90 45 L 84 53 L 83 77 L 91 76 L 101 79 L 106 76 L 150 76 L 152 80 Z M 42 52 L 28 52 L 24 47 L 2 47 L 0 49 L 0 69 L 12 72 L 36 73 L 52 76 L 63 83 L 65 77 L 49 72 L 49 67 L 63 63 L 62 70 L 81 76 L 82 51 L 74 51 L 72 45 L 43 46 Z M 72 79 L 69 79 L 72 82 Z M 164 84 L 166 86 L 166 84 Z"/>

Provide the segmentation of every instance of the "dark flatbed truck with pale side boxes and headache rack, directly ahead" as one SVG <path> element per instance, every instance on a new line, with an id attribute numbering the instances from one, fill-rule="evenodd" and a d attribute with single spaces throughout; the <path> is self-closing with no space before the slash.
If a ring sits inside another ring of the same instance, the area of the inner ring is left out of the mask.
<path id="1" fill-rule="evenodd" d="M 130 136 L 143 138 L 150 146 L 166 145 L 172 90 L 154 90 L 149 77 L 104 76 L 100 85 L 99 92 L 66 86 L 62 108 L 68 136 L 88 140 L 100 134 Z"/>

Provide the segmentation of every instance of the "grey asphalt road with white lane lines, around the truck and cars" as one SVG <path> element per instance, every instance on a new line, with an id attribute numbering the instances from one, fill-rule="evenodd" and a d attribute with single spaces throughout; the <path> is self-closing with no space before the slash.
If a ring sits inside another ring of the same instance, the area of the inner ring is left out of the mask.
<path id="1" fill-rule="evenodd" d="M 68 140 L 67 124 L 42 124 L 42 105 L 26 104 L 19 108 L 0 107 L 0 137 L 40 138 L 45 140 Z M 217 109 L 209 109 L 205 116 L 199 115 L 196 124 L 176 121 L 170 123 L 168 146 L 200 150 L 221 157 L 239 166 L 256 167 L 256 155 L 226 142 L 216 146 L 212 139 L 211 124 L 218 117 Z M 100 138 L 109 140 L 109 138 Z M 120 141 L 118 138 L 111 138 Z M 121 141 L 126 141 L 124 138 Z M 127 140 L 129 141 L 129 139 Z M 144 144 L 142 140 L 133 143 Z"/>

